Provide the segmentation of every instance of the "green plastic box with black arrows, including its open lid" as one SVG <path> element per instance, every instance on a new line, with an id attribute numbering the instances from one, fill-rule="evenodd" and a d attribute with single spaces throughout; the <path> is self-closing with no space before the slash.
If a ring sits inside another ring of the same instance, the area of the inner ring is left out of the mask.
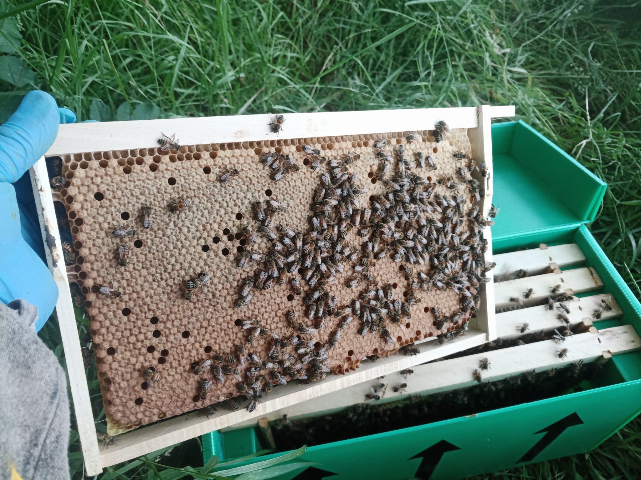
<path id="1" fill-rule="evenodd" d="M 492 125 L 495 253 L 576 243 L 612 294 L 623 316 L 599 329 L 631 324 L 641 333 L 641 305 L 588 225 L 606 184 L 524 122 Z M 581 296 L 581 295 L 579 295 Z M 582 392 L 500 408 L 412 428 L 309 447 L 290 479 L 458 479 L 587 452 L 641 410 L 641 353 L 614 356 Z M 257 454 L 255 428 L 203 436 L 204 459 L 238 459 L 234 466 L 281 454 Z"/>

